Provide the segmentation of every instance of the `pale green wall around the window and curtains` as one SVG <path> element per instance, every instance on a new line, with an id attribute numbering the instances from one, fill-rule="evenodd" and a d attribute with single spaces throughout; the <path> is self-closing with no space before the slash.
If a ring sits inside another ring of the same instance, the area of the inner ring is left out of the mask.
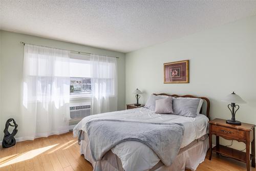
<path id="1" fill-rule="evenodd" d="M 119 57 L 117 59 L 118 71 L 118 110 L 125 109 L 125 55 L 124 53 L 92 48 L 88 46 L 71 44 L 64 41 L 0 31 L 1 34 L 1 60 L 0 60 L 0 141 L 3 139 L 4 123 L 8 118 L 14 118 L 20 123 L 20 91 L 23 74 L 24 46 L 20 41 L 35 45 L 43 45 L 60 49 L 83 51 L 100 55 Z M 81 100 L 78 100 L 79 102 Z M 16 138 L 19 138 L 17 134 Z"/>

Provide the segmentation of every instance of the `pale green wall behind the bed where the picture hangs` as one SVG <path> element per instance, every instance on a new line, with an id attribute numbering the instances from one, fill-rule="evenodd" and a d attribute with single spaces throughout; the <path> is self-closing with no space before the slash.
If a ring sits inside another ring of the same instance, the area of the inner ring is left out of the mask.
<path id="1" fill-rule="evenodd" d="M 163 83 L 163 63 L 189 59 L 190 83 Z M 126 103 L 132 92 L 192 94 L 210 99 L 211 118 L 230 119 L 221 99 L 232 91 L 240 95 L 236 119 L 256 124 L 256 16 L 125 54 Z M 230 143 L 223 142 L 222 143 Z M 242 149 L 243 143 L 235 143 Z"/>

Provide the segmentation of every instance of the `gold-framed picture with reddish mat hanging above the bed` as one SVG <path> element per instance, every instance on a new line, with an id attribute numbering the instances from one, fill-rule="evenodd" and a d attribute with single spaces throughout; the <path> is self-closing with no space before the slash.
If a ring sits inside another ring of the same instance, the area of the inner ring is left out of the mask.
<path id="1" fill-rule="evenodd" d="M 188 60 L 163 64 L 164 83 L 188 83 Z"/>

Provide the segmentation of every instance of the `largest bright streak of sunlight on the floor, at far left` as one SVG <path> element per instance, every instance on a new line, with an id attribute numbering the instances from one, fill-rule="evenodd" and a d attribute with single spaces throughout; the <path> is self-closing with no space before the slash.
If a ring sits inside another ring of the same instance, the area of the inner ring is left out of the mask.
<path id="1" fill-rule="evenodd" d="M 0 167 L 4 167 L 4 166 L 8 166 L 10 164 L 14 164 L 14 163 L 18 163 L 18 162 L 21 162 L 21 161 L 32 159 L 33 157 L 48 151 L 48 149 L 51 149 L 56 145 L 58 145 L 58 144 L 54 144 L 54 145 L 50 145 L 50 146 L 46 146 L 46 147 L 41 147 L 41 148 L 33 149 L 29 152 L 25 152 L 23 154 L 20 154 L 17 157 L 14 157 L 13 159 L 7 161 L 6 163 L 1 164 Z"/>

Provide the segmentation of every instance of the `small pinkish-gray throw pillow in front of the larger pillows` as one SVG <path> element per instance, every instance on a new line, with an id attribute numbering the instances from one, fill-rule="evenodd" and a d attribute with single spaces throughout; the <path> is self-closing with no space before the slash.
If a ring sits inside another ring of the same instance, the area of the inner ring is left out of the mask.
<path id="1" fill-rule="evenodd" d="M 167 113 L 174 113 L 173 111 L 173 98 L 166 97 L 163 99 L 156 100 L 156 114 L 167 114 Z"/>

